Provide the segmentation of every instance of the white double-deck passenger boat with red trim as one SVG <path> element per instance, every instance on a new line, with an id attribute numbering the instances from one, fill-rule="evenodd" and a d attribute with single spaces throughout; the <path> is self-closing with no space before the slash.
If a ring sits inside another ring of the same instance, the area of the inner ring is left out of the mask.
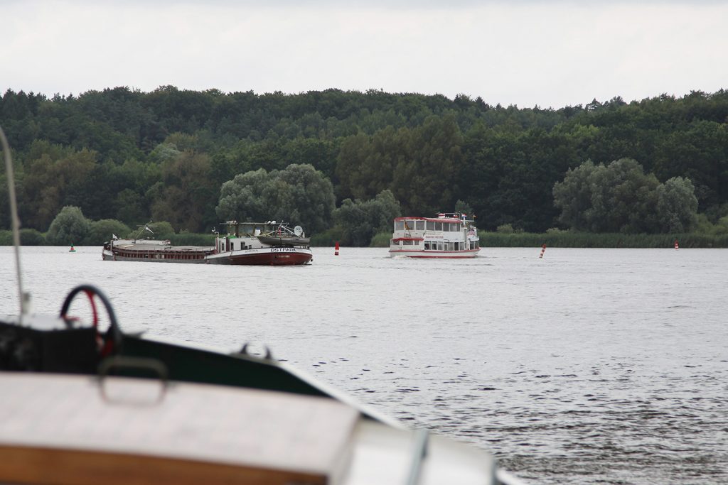
<path id="1" fill-rule="evenodd" d="M 480 251 L 478 229 L 466 214 L 438 217 L 396 217 L 389 241 L 390 256 L 475 257 Z"/>

